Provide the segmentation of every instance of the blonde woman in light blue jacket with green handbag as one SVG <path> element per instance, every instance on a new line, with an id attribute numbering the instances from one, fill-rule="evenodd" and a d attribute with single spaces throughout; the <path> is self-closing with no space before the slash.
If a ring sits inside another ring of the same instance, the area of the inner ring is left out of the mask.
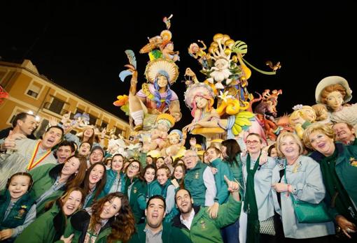
<path id="1" fill-rule="evenodd" d="M 304 146 L 295 133 L 281 133 L 276 140 L 276 149 L 283 158 L 272 175 L 274 209 L 279 214 L 275 219 L 278 221 L 276 225 L 280 226 L 276 229 L 276 236 L 283 242 L 297 239 L 329 242 L 332 239 L 328 235 L 335 234 L 332 221 L 299 223 L 292 199 L 318 204 L 325 198 L 320 165 L 302 155 Z"/>

